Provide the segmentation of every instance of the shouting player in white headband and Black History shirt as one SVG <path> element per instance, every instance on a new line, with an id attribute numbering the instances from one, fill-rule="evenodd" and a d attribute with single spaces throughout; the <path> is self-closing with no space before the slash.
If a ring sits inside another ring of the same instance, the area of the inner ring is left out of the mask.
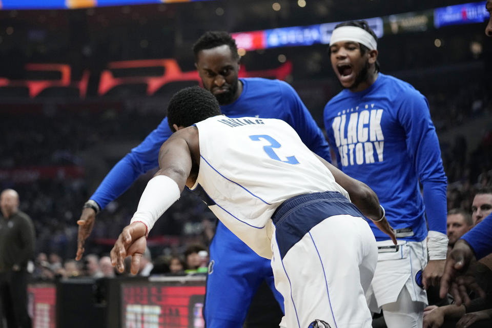
<path id="1" fill-rule="evenodd" d="M 376 192 L 397 230 L 394 247 L 370 223 L 379 248 L 370 308 L 383 309 L 388 328 L 418 327 L 427 303 L 421 270 L 424 288 L 436 285 L 446 258 L 447 179 L 427 99 L 379 72 L 376 40 L 366 22 L 335 28 L 331 63 L 345 89 L 326 104 L 324 124 L 339 168 Z"/>

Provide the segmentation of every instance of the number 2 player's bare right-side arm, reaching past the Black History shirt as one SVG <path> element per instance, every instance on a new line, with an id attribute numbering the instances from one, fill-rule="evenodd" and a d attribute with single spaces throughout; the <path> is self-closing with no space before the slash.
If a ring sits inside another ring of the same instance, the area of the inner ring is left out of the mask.
<path id="1" fill-rule="evenodd" d="M 324 164 L 324 166 L 330 170 L 335 178 L 335 181 L 348 192 L 348 195 L 350 195 L 350 200 L 359 208 L 362 214 L 373 220 L 374 224 L 376 224 L 382 232 L 387 234 L 396 245 L 397 241 L 395 230 L 389 226 L 389 223 L 384 216 L 384 210 L 380 206 L 376 193 L 365 183 L 351 178 L 331 165 L 331 163 L 327 162 L 318 155 L 316 156 Z"/>

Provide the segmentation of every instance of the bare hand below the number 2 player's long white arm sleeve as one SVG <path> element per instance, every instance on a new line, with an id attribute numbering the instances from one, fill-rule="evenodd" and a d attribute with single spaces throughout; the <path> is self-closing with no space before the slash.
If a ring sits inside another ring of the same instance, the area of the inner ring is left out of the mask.
<path id="1" fill-rule="evenodd" d="M 111 264 L 119 272 L 125 270 L 123 261 L 127 256 L 132 257 L 132 264 L 130 265 L 130 272 L 134 275 L 138 273 L 140 268 L 140 260 L 144 255 L 145 248 L 147 246 L 147 239 L 145 235 L 147 233 L 147 227 L 142 222 L 133 222 L 129 226 L 126 226 L 119 234 L 113 249 L 111 250 Z"/>

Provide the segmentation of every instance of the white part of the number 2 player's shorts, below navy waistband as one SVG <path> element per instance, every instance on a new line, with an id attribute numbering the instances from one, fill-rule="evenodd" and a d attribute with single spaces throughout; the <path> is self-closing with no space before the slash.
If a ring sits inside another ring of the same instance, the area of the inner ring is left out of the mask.
<path id="1" fill-rule="evenodd" d="M 272 249 L 275 286 L 285 306 L 281 327 L 371 327 L 364 293 L 376 268 L 377 248 L 364 219 L 334 215 L 312 227 L 283 258 L 276 238 Z"/>

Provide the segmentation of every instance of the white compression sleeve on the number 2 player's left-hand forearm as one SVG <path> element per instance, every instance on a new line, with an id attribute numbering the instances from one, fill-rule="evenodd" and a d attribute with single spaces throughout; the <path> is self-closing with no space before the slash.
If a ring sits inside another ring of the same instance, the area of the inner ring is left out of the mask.
<path id="1" fill-rule="evenodd" d="M 145 187 L 137 211 L 130 223 L 140 221 L 147 226 L 147 234 L 155 221 L 179 199 L 180 191 L 176 181 L 167 175 L 158 175 L 150 179 Z"/>

